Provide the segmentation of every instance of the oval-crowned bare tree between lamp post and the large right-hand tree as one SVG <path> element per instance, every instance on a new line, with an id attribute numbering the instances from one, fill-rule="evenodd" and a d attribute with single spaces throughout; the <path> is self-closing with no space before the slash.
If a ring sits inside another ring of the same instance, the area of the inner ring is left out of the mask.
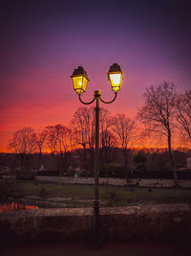
<path id="1" fill-rule="evenodd" d="M 128 185 L 128 150 L 138 138 L 136 122 L 124 114 L 117 114 L 114 117 L 113 131 L 117 135 L 118 144 L 123 150 L 125 176 Z"/>

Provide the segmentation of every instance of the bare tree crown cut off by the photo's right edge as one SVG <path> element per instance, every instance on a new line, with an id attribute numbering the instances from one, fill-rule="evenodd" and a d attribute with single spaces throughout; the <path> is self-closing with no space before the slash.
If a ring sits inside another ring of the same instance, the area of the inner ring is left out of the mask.
<path id="1" fill-rule="evenodd" d="M 180 130 L 180 137 L 191 145 L 191 91 L 177 96 L 176 120 Z"/>

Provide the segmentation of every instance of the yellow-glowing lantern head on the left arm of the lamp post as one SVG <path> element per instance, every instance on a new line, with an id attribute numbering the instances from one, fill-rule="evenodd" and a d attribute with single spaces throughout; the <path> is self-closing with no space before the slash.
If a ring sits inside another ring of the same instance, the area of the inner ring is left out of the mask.
<path id="1" fill-rule="evenodd" d="M 86 91 L 86 87 L 88 84 L 87 73 L 82 66 L 78 66 L 78 68 L 74 69 L 73 75 L 71 76 L 73 80 L 74 90 L 77 94 L 82 94 Z"/>

